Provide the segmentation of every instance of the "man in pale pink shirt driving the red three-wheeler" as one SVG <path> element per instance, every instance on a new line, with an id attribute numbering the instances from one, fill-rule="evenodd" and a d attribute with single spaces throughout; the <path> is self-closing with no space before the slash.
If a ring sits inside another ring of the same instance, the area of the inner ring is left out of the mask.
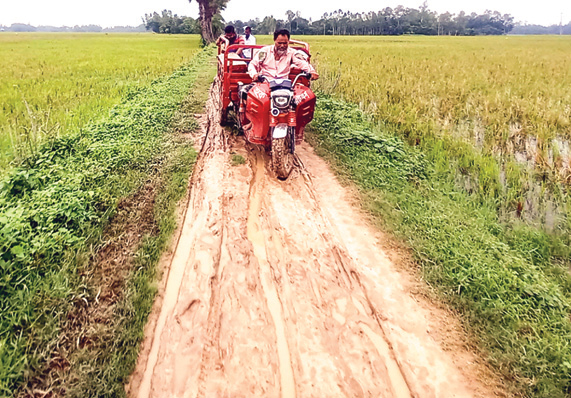
<path id="1" fill-rule="evenodd" d="M 290 34 L 287 29 L 274 32 L 274 45 L 265 46 L 254 52 L 248 65 L 248 74 L 252 81 L 260 76 L 267 79 L 287 79 L 292 64 L 304 72 L 311 73 L 312 80 L 317 80 L 319 74 L 307 61 L 307 56 L 301 51 L 289 47 Z"/>

